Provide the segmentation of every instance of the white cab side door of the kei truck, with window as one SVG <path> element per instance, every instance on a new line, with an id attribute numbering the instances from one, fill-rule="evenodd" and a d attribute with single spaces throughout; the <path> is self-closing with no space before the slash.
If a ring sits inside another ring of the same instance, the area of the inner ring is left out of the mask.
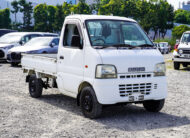
<path id="1" fill-rule="evenodd" d="M 72 38 L 76 35 L 80 36 L 83 45 L 80 20 L 67 20 L 63 30 L 63 41 L 59 45 L 57 82 L 61 92 L 75 97 L 84 76 L 84 49 L 72 45 Z"/>

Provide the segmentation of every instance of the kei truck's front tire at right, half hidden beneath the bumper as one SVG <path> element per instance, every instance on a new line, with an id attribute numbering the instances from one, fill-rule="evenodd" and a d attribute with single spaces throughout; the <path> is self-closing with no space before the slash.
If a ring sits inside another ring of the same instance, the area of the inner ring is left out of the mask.
<path id="1" fill-rule="evenodd" d="M 144 101 L 143 106 L 149 112 L 159 112 L 164 107 L 165 99 L 164 100 L 151 100 L 151 101 Z"/>

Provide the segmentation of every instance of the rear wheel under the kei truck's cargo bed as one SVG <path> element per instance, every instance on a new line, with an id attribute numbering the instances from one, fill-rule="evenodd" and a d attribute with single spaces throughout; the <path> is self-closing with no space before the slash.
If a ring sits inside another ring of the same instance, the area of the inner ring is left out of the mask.
<path id="1" fill-rule="evenodd" d="M 43 82 L 41 79 L 37 79 L 35 75 L 31 75 L 29 78 L 29 93 L 33 98 L 39 98 L 42 95 Z"/>

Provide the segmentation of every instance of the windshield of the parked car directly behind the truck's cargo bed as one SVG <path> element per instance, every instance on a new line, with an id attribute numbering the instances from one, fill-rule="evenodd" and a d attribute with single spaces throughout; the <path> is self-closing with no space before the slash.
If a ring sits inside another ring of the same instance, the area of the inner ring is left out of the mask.
<path id="1" fill-rule="evenodd" d="M 25 44 L 25 46 L 49 46 L 52 40 L 53 40 L 52 38 L 47 38 L 47 37 L 33 38 L 30 41 L 28 41 Z"/>

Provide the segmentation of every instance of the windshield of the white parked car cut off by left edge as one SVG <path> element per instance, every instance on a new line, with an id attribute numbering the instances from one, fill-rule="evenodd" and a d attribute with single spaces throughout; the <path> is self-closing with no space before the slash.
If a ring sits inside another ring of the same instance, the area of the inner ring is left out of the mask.
<path id="1" fill-rule="evenodd" d="M 6 34 L 0 37 L 0 43 L 18 43 L 22 38 L 22 35 Z"/>

